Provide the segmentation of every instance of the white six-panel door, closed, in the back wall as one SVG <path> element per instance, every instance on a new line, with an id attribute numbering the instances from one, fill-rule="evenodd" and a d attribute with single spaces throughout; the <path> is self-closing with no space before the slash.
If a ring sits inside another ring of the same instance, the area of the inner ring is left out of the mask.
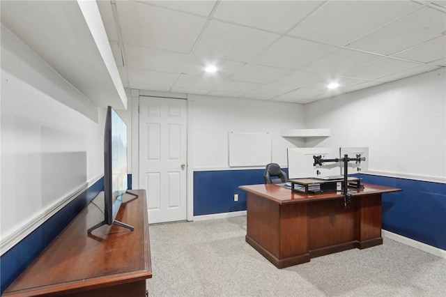
<path id="1" fill-rule="evenodd" d="M 139 97 L 139 188 L 148 222 L 186 220 L 187 101 Z"/>

